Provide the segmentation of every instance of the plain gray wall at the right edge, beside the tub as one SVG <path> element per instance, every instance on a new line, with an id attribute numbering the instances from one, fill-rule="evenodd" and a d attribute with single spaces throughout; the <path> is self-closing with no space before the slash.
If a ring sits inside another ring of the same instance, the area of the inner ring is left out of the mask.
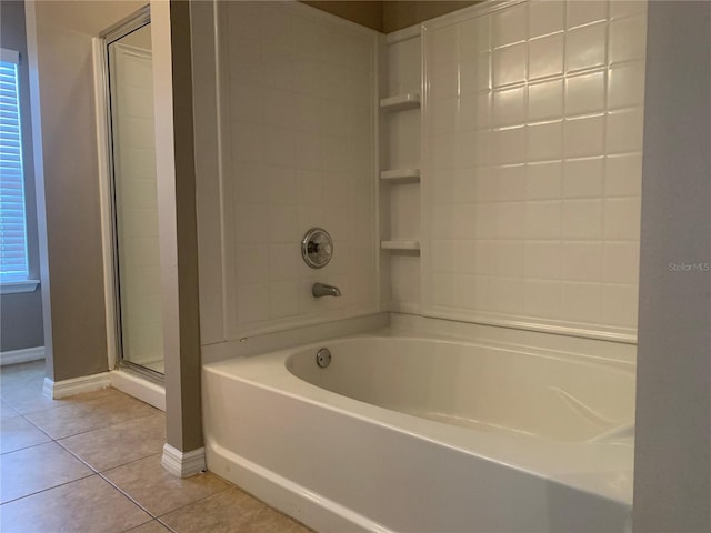
<path id="1" fill-rule="evenodd" d="M 711 2 L 649 2 L 633 511 L 639 533 L 711 531 L 710 42 Z"/>

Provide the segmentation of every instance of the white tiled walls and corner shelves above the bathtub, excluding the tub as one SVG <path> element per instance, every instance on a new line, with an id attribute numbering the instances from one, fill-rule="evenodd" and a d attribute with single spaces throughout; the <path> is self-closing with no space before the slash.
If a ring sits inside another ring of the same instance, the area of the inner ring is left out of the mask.
<path id="1" fill-rule="evenodd" d="M 645 6 L 514 0 L 387 39 L 218 6 L 202 345 L 380 311 L 634 343 Z M 402 94 L 422 109 L 375 109 Z M 319 271 L 313 225 L 334 240 Z"/>

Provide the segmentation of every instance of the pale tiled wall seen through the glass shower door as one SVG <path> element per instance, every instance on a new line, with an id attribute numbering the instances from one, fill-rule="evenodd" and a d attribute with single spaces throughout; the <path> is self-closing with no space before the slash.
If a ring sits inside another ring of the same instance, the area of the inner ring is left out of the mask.
<path id="1" fill-rule="evenodd" d="M 113 44 L 114 165 L 123 356 L 161 360 L 163 330 L 150 50 Z"/>

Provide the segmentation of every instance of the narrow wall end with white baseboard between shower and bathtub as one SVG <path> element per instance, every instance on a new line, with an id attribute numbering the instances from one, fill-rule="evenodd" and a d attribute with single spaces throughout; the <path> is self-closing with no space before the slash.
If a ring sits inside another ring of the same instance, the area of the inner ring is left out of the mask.
<path id="1" fill-rule="evenodd" d="M 162 463 L 187 476 L 204 467 L 189 3 L 152 0 L 151 26 L 166 352 Z"/>

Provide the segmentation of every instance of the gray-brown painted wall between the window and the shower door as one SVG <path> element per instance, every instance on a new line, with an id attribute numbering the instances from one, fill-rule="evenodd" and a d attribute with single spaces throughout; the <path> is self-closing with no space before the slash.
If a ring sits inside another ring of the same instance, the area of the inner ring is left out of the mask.
<path id="1" fill-rule="evenodd" d="M 92 38 L 141 6 L 32 3 L 54 381 L 108 369 Z"/>

